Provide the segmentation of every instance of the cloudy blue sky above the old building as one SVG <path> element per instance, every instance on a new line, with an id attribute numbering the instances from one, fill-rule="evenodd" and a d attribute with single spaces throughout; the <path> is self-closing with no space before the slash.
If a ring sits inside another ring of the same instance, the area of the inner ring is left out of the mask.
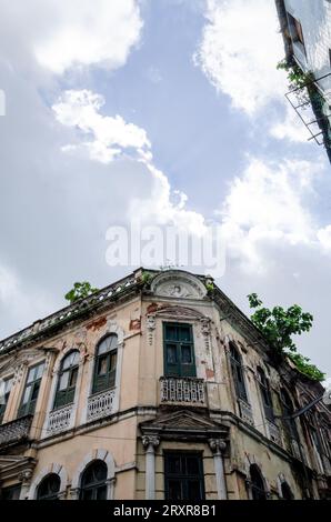
<path id="1" fill-rule="evenodd" d="M 107 231 L 227 234 L 220 288 L 299 303 L 331 374 L 331 175 L 288 107 L 273 0 L 0 0 L 0 338 L 104 287 Z M 171 260 L 170 260 L 171 261 Z M 189 267 L 190 268 L 190 267 Z"/>

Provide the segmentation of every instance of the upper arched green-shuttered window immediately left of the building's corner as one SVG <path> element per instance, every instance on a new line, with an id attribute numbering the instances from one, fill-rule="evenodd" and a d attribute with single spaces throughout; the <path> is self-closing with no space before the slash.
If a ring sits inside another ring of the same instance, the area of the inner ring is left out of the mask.
<path id="1" fill-rule="evenodd" d="M 118 337 L 107 335 L 97 347 L 92 393 L 114 387 L 118 357 Z"/>

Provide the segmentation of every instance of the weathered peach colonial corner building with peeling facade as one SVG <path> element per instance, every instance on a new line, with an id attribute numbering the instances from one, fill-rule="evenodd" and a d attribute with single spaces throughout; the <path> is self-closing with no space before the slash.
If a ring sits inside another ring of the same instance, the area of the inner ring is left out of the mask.
<path id="1" fill-rule="evenodd" d="M 137 270 L 0 343 L 2 499 L 330 496 L 323 392 L 210 278 Z M 285 419 L 281 419 L 285 416 Z"/>

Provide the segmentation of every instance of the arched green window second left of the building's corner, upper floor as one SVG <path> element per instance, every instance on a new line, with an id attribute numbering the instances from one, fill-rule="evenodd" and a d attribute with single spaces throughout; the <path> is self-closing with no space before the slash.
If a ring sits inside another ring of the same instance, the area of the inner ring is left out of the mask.
<path id="1" fill-rule="evenodd" d="M 54 408 L 61 408 L 73 402 L 78 375 L 78 350 L 73 350 L 72 352 L 68 353 L 68 355 L 66 355 L 62 360 L 54 399 Z"/>

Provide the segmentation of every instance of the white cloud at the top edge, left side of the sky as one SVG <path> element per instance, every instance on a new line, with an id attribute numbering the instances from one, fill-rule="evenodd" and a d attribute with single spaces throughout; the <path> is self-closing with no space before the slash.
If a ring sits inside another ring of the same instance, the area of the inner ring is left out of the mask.
<path id="1" fill-rule="evenodd" d="M 48 30 L 36 38 L 34 53 L 58 74 L 76 67 L 123 66 L 142 28 L 136 0 L 48 0 L 42 12 Z"/>

